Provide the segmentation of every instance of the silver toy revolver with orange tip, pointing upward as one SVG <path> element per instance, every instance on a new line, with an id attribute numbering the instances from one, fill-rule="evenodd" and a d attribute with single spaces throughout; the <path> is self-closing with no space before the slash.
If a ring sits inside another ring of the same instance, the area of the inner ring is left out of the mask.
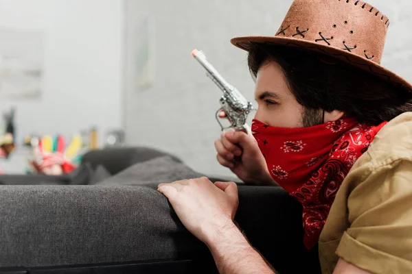
<path id="1" fill-rule="evenodd" d="M 216 112 L 216 120 L 218 121 L 222 131 L 229 128 L 234 128 L 236 131 L 249 132 L 247 126 L 247 116 L 254 110 L 251 102 L 239 92 L 237 88 L 226 82 L 222 75 L 216 71 L 216 69 L 206 60 L 206 55 L 203 51 L 195 49 L 192 51 L 192 56 L 198 60 L 199 63 L 206 69 L 206 75 L 213 81 L 220 90 L 223 92 L 223 96 L 220 97 L 220 105 L 222 108 Z M 225 111 L 227 118 L 231 122 L 229 127 L 224 127 L 219 121 L 219 113 Z"/>

